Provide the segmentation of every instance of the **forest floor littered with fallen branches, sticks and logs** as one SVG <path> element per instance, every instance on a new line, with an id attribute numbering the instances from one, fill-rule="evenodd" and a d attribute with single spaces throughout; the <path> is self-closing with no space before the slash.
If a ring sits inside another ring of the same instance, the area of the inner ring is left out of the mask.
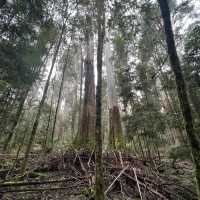
<path id="1" fill-rule="evenodd" d="M 4 155 L 1 159 L 2 200 L 93 199 L 94 152 L 74 150 L 32 155 L 23 176 L 19 173 L 22 159 L 10 170 L 12 165 L 8 161 L 13 162 L 8 157 Z M 154 158 L 150 162 L 120 151 L 105 153 L 103 161 L 108 200 L 197 199 L 190 161 L 177 161 L 172 166 L 167 159 Z"/>

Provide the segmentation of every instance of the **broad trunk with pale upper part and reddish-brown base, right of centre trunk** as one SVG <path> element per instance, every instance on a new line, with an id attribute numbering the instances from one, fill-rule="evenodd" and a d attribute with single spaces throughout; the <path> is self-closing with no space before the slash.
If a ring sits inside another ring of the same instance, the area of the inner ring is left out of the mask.
<path id="1" fill-rule="evenodd" d="M 109 40 L 108 33 L 108 40 Z M 123 146 L 123 134 L 117 95 L 115 90 L 115 74 L 111 61 L 110 41 L 105 47 L 105 64 L 107 70 L 108 98 L 109 98 L 109 147 L 115 149 Z"/>

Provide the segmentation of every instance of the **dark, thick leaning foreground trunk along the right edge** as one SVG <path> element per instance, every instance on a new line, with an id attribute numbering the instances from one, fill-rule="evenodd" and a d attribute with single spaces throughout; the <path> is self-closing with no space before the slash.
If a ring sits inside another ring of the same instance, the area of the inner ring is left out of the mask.
<path id="1" fill-rule="evenodd" d="M 195 133 L 193 126 L 192 113 L 186 92 L 185 81 L 183 79 L 180 62 L 176 51 L 168 2 L 167 0 L 158 0 L 158 2 L 164 21 L 164 29 L 170 64 L 175 75 L 180 107 L 183 113 L 185 128 L 190 142 L 191 153 L 196 172 L 198 199 L 200 200 L 200 141 L 197 133 Z"/>

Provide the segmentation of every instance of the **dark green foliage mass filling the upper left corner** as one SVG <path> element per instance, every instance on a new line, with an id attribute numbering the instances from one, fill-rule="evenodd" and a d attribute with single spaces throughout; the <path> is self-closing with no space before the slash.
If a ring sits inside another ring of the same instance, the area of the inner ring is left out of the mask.
<path id="1" fill-rule="evenodd" d="M 47 44 L 55 37 L 45 8 L 48 1 L 14 1 L 0 9 L 1 79 L 14 88 L 31 86 L 39 78 Z"/>

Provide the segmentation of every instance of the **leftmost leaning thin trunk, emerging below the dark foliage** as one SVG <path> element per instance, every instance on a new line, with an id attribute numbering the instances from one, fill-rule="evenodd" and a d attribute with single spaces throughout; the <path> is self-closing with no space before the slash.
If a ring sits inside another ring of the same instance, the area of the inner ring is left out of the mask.
<path id="1" fill-rule="evenodd" d="M 18 124 L 18 121 L 20 119 L 20 116 L 21 116 L 21 113 L 22 113 L 22 110 L 23 110 L 23 107 L 24 107 L 24 102 L 26 100 L 26 97 L 28 95 L 28 91 L 29 89 L 26 89 L 23 93 L 22 93 L 22 96 L 21 96 L 21 101 L 20 101 L 20 104 L 19 104 L 19 107 L 17 109 L 17 113 L 16 113 L 16 116 L 15 116 L 15 120 L 14 120 L 14 123 L 11 127 L 11 130 L 9 131 L 9 135 L 8 137 L 6 138 L 5 140 L 5 143 L 4 143 L 4 147 L 3 147 L 3 151 L 6 151 L 7 148 L 8 148 L 8 145 L 13 137 L 13 134 L 14 134 L 14 130 Z"/>

